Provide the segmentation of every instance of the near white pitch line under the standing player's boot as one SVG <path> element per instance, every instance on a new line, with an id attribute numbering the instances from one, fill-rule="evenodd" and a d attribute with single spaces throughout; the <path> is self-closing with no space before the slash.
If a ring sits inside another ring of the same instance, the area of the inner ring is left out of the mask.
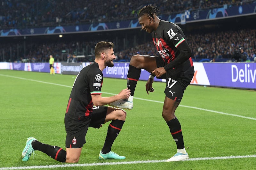
<path id="1" fill-rule="evenodd" d="M 256 155 L 244 156 L 222 156 L 222 157 L 209 157 L 209 158 L 190 158 L 184 161 L 197 161 L 197 160 L 220 160 L 220 159 L 241 159 L 241 158 L 256 158 Z M 40 168 L 63 168 L 63 167 L 86 167 L 86 166 L 107 166 L 107 165 L 125 165 L 125 164 L 146 164 L 146 163 L 161 163 L 166 160 L 140 160 L 140 161 L 127 161 L 127 162 L 103 162 L 103 163 L 89 163 L 89 164 L 60 164 L 60 165 L 44 165 L 44 166 L 16 166 L 16 167 L 2 167 L 0 170 L 18 170 L 18 169 L 40 169 Z M 171 163 L 171 162 L 168 162 Z"/>

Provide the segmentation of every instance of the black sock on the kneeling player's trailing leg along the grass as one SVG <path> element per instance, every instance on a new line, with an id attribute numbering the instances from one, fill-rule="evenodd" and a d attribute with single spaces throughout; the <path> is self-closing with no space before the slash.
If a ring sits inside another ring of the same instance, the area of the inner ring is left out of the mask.
<path id="1" fill-rule="evenodd" d="M 32 147 L 36 151 L 41 151 L 46 153 L 51 158 L 60 161 L 66 162 L 67 152 L 60 148 L 59 146 L 51 146 L 49 144 L 44 144 L 38 141 L 34 141 L 31 143 Z"/>

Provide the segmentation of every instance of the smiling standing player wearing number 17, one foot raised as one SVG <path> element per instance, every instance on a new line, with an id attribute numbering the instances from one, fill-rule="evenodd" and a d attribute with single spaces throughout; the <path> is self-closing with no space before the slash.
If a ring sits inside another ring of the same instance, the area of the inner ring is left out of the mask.
<path id="1" fill-rule="evenodd" d="M 145 69 L 150 73 L 146 83 L 147 93 L 148 91 L 154 92 L 152 83 L 155 76 L 166 79 L 162 116 L 177 145 L 177 153 L 167 162 L 180 161 L 188 159 L 188 153 L 184 146 L 181 126 L 175 115 L 175 110 L 194 76 L 192 52 L 180 27 L 172 22 L 159 19 L 156 11 L 158 10 L 151 4 L 144 6 L 141 8 L 138 18 L 141 28 L 151 33 L 159 56 L 132 56 L 127 75 L 127 87 L 131 90 L 131 96 L 128 100 L 119 100 L 111 103 L 110 106 L 124 109 L 133 108 L 133 95 L 140 78 L 140 69 Z"/>

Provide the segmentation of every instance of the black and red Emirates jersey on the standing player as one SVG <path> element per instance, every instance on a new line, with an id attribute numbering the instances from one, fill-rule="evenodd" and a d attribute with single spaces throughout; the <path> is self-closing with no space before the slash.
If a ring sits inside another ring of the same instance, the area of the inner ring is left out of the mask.
<path id="1" fill-rule="evenodd" d="M 178 46 L 186 41 L 183 31 L 178 25 L 164 20 L 160 20 L 156 31 L 153 31 L 151 34 L 156 50 L 159 53 L 159 57 L 164 60 L 165 64 L 168 64 L 177 58 L 180 54 L 180 50 L 177 49 Z M 188 46 L 187 48 L 191 51 Z M 186 59 L 185 62 L 176 64 L 172 71 L 182 71 L 184 74 L 193 74 L 194 66 L 192 58 L 191 56 L 188 56 L 187 58 L 188 59 Z"/>

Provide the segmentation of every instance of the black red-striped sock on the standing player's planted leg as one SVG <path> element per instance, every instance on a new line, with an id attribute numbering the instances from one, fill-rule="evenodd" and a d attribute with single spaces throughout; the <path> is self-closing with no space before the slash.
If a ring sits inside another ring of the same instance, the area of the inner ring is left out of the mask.
<path id="1" fill-rule="evenodd" d="M 173 118 L 172 120 L 170 120 L 166 123 L 170 128 L 170 132 L 172 134 L 174 141 L 176 142 L 177 149 L 185 148 L 183 136 L 182 136 L 182 132 L 181 132 L 180 122 L 177 119 L 177 117 Z"/>

